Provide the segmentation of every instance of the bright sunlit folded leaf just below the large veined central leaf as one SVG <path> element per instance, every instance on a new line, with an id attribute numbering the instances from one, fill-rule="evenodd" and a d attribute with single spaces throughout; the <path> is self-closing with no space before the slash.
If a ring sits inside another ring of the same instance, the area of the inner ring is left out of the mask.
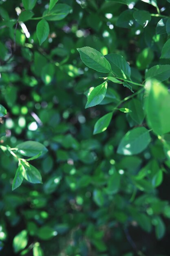
<path id="1" fill-rule="evenodd" d="M 90 108 L 98 105 L 105 97 L 107 91 L 107 82 L 102 83 L 95 87 L 88 95 L 87 103 L 85 108 Z"/>

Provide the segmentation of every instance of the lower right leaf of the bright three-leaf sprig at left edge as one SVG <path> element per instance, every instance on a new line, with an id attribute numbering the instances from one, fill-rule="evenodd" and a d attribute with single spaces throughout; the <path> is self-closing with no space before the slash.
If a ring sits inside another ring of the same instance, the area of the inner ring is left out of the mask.
<path id="1" fill-rule="evenodd" d="M 22 162 L 25 169 L 24 178 L 31 183 L 42 183 L 40 172 L 33 165 L 28 162 Z"/>

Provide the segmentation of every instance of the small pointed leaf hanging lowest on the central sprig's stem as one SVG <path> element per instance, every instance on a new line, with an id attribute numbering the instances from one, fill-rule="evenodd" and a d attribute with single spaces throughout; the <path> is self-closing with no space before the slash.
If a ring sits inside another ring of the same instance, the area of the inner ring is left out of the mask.
<path id="1" fill-rule="evenodd" d="M 97 122 L 95 123 L 93 134 L 104 132 L 108 128 L 110 121 L 112 119 L 112 116 L 113 116 L 113 112 L 110 112 L 104 115 L 103 117 L 101 117 L 99 120 L 97 120 Z"/>

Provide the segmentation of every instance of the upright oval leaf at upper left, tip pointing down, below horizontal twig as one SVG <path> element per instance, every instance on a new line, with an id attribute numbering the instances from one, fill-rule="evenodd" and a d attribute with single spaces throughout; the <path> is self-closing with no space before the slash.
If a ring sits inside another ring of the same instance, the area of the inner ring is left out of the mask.
<path id="1" fill-rule="evenodd" d="M 50 33 L 49 23 L 44 19 L 40 20 L 37 24 L 36 32 L 39 43 L 40 45 L 42 45 L 42 43 L 44 43 L 44 41 L 48 38 Z"/>

